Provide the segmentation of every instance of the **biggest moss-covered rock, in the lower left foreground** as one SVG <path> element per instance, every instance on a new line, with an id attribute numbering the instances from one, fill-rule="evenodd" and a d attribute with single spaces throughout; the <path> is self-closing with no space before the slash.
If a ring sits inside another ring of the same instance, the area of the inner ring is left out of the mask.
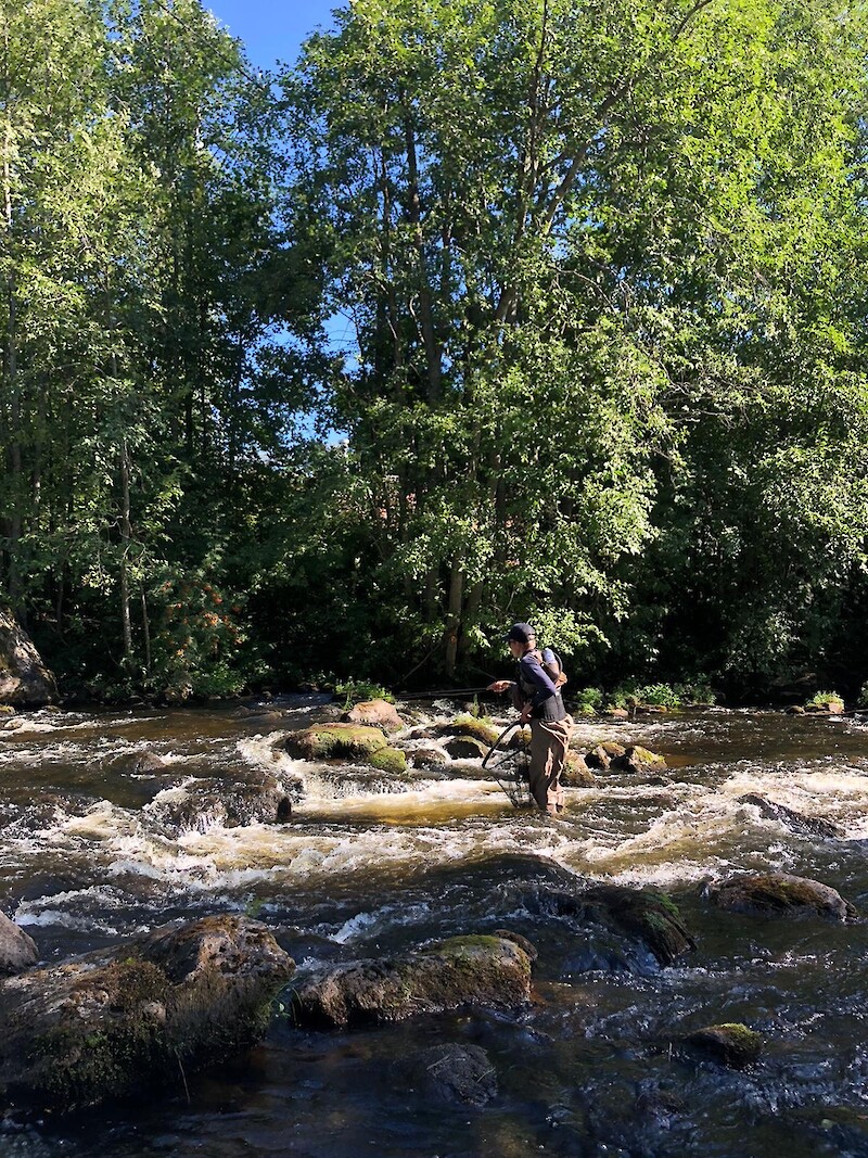
<path id="1" fill-rule="evenodd" d="M 223 1061 L 265 1032 L 294 962 L 243 917 L 167 925 L 0 987 L 6 1105 L 67 1112 Z"/>

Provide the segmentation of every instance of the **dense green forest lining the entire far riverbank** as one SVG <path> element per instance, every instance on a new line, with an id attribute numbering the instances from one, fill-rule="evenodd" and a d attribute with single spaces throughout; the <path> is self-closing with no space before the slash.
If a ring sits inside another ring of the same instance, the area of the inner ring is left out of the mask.
<path id="1" fill-rule="evenodd" d="M 868 677 L 855 0 L 0 0 L 0 603 L 65 687 Z"/>

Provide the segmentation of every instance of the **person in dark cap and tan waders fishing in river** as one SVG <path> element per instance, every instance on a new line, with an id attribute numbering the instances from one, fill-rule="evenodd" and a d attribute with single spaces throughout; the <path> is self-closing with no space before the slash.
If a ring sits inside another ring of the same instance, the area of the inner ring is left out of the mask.
<path id="1" fill-rule="evenodd" d="M 537 651 L 536 631 L 529 623 L 514 623 L 506 638 L 518 661 L 516 679 L 495 680 L 488 691 L 510 691 L 513 706 L 521 713 L 520 723 L 530 721 L 530 794 L 553 815 L 564 811 L 560 774 L 573 732 L 573 718 L 560 695 L 567 679 L 559 664 L 554 665 L 556 672 Z"/>

